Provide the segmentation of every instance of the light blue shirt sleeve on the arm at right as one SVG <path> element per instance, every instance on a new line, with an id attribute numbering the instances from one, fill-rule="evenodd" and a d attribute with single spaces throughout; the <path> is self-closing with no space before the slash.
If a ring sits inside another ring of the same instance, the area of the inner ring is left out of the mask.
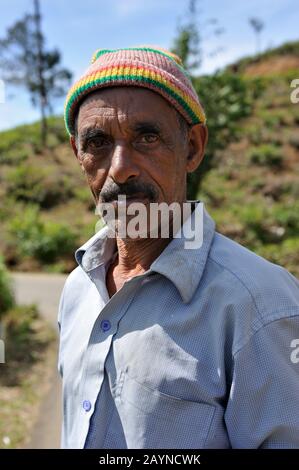
<path id="1" fill-rule="evenodd" d="M 299 448 L 299 307 L 236 353 L 225 422 L 233 448 Z"/>

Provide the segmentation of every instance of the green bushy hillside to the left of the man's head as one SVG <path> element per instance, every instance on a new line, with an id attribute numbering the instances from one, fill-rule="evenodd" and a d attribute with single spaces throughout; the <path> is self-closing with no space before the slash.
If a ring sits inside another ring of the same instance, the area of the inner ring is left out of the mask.
<path id="1" fill-rule="evenodd" d="M 38 123 L 0 134 L 0 252 L 10 269 L 68 272 L 94 233 L 94 204 L 63 120 L 49 125 L 46 150 Z"/>

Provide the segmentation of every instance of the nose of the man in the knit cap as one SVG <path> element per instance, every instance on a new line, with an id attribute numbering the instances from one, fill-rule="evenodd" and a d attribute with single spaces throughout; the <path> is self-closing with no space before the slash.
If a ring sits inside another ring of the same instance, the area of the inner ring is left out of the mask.
<path id="1" fill-rule="evenodd" d="M 134 159 L 133 149 L 124 143 L 118 143 L 114 147 L 109 169 L 109 176 L 115 183 L 125 183 L 129 178 L 139 176 L 140 169 Z"/>

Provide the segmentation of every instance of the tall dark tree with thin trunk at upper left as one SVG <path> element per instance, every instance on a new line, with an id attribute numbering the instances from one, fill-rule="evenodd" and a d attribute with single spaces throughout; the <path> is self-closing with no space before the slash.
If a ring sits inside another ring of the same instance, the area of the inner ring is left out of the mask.
<path id="1" fill-rule="evenodd" d="M 60 66 L 58 49 L 46 50 L 41 29 L 39 0 L 34 11 L 14 23 L 0 40 L 0 69 L 3 80 L 24 87 L 41 115 L 41 141 L 47 141 L 47 115 L 57 98 L 65 95 L 72 74 Z"/>

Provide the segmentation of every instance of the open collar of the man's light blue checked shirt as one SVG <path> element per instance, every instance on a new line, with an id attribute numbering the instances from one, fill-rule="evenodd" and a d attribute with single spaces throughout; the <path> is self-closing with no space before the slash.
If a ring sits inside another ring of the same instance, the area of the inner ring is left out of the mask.
<path id="1" fill-rule="evenodd" d="M 194 227 L 195 212 L 201 210 L 200 201 L 193 202 L 191 223 Z M 201 203 L 202 204 L 202 203 Z M 190 222 L 189 219 L 185 224 Z M 77 263 L 86 272 L 97 268 L 111 260 L 116 251 L 115 238 L 108 236 L 109 228 L 103 227 L 75 253 Z M 184 303 L 188 303 L 203 275 L 208 254 L 215 233 L 215 222 L 203 206 L 203 242 L 199 248 L 185 248 L 185 235 L 173 238 L 163 252 L 150 266 L 148 272 L 157 272 L 167 277 L 176 286 Z"/>

